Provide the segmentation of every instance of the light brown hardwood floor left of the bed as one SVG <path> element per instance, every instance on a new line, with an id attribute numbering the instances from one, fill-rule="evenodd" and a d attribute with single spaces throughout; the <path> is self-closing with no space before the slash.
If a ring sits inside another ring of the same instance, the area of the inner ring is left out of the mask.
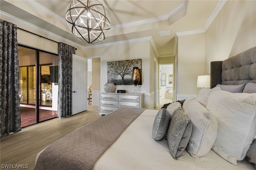
<path id="1" fill-rule="evenodd" d="M 88 111 L 64 119 L 51 119 L 46 122 L 22 128 L 18 133 L 0 139 L 0 169 L 3 166 L 28 166 L 33 170 L 36 155 L 46 146 L 62 136 L 98 119 L 98 107 L 88 106 Z M 12 168 L 10 168 L 12 169 Z M 15 168 L 15 170 L 22 168 Z"/>

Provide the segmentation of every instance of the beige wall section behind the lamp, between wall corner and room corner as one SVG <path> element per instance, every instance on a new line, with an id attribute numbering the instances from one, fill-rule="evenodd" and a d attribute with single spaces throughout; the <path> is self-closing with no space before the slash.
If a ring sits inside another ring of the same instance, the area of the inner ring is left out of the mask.
<path id="1" fill-rule="evenodd" d="M 196 95 L 198 75 L 204 75 L 205 43 L 204 33 L 178 37 L 178 99 Z"/>

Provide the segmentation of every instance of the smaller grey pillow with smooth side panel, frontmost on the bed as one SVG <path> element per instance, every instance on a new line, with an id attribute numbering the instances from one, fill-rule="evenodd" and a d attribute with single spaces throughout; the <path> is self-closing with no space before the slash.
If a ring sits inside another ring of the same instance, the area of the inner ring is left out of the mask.
<path id="1" fill-rule="evenodd" d="M 167 109 L 162 108 L 158 111 L 152 128 L 152 136 L 154 140 L 162 140 L 167 133 L 170 124 L 170 113 Z"/>

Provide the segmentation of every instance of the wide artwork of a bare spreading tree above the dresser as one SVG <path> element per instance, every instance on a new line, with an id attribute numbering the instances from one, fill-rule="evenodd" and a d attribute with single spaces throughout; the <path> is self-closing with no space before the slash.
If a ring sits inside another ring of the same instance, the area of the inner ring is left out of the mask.
<path id="1" fill-rule="evenodd" d="M 139 67 L 140 77 L 142 77 L 141 59 L 107 62 L 108 83 L 114 83 L 116 85 L 134 85 L 134 83 L 132 83 L 133 67 Z M 141 78 L 138 85 L 142 85 Z"/>

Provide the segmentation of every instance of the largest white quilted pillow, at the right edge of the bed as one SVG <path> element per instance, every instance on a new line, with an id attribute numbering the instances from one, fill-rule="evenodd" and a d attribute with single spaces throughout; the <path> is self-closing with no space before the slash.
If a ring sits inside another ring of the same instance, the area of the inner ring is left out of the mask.
<path id="1" fill-rule="evenodd" d="M 218 88 L 214 88 L 206 105 L 218 123 L 212 149 L 236 165 L 246 156 L 256 134 L 256 93 L 230 93 Z"/>

